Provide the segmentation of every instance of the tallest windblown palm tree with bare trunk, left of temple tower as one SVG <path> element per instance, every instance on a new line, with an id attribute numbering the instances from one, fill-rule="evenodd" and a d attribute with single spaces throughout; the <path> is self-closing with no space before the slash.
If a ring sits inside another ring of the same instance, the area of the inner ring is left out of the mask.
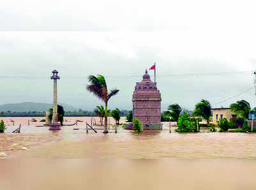
<path id="1" fill-rule="evenodd" d="M 87 85 L 86 89 L 89 92 L 93 92 L 97 98 L 102 99 L 102 101 L 105 103 L 105 121 L 103 133 L 108 133 L 108 101 L 112 96 L 115 96 L 119 90 L 112 89 L 108 92 L 106 80 L 102 75 L 98 75 L 97 77 L 90 75 L 88 80 L 90 85 Z"/>

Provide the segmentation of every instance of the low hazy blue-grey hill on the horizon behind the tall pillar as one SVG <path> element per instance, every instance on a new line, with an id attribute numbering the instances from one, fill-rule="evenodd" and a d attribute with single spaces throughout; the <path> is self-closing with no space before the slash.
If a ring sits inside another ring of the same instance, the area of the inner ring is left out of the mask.
<path id="1" fill-rule="evenodd" d="M 73 112 L 74 110 L 78 110 L 77 108 L 60 103 L 64 107 L 64 110 Z M 0 112 L 45 112 L 52 108 L 51 103 L 33 103 L 33 102 L 24 102 L 24 103 L 8 103 L 4 105 L 0 105 Z"/>

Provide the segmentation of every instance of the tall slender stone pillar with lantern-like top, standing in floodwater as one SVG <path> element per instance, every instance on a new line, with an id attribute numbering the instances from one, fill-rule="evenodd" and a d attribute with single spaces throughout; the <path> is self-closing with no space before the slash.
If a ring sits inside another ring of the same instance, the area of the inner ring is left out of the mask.
<path id="1" fill-rule="evenodd" d="M 53 109 L 52 109 L 52 123 L 49 130 L 60 130 L 60 124 L 58 124 L 58 101 L 57 101 L 57 80 L 60 80 L 58 71 L 52 71 L 51 80 L 53 80 Z"/>

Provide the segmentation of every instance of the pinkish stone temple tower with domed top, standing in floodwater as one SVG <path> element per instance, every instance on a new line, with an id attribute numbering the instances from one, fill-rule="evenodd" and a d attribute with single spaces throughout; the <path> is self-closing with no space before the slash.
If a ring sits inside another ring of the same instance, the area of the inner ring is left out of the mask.
<path id="1" fill-rule="evenodd" d="M 133 118 L 138 118 L 143 129 L 161 130 L 161 93 L 150 80 L 146 70 L 143 80 L 136 83 L 132 96 Z"/>

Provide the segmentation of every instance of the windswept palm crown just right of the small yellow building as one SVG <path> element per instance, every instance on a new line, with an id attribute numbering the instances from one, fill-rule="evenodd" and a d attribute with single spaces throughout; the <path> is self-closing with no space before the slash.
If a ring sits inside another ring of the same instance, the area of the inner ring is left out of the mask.
<path id="1" fill-rule="evenodd" d="M 236 103 L 232 103 L 230 105 L 230 110 L 237 115 L 241 115 L 241 117 L 248 119 L 249 113 L 251 112 L 251 107 L 248 101 L 241 100 L 237 101 Z"/>

